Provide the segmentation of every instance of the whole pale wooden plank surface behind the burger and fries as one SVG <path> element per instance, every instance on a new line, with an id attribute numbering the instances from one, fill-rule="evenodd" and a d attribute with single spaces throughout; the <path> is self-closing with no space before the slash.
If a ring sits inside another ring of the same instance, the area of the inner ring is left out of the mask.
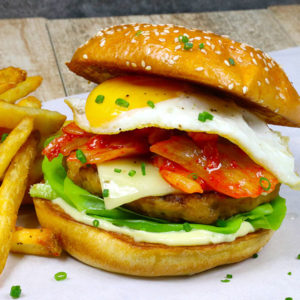
<path id="1" fill-rule="evenodd" d="M 14 65 L 44 77 L 37 96 L 47 101 L 90 91 L 65 62 L 101 28 L 132 22 L 173 23 L 227 34 L 264 51 L 300 45 L 300 5 L 269 9 L 107 18 L 0 20 L 0 67 Z"/>

